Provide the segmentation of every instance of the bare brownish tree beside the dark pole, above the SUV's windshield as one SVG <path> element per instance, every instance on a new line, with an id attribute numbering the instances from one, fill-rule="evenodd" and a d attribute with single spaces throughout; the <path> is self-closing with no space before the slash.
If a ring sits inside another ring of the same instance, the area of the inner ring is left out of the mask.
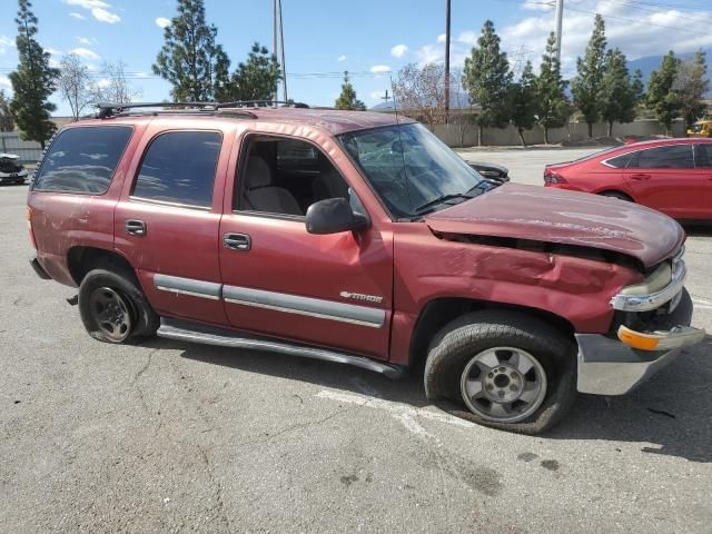
<path id="1" fill-rule="evenodd" d="M 451 76 L 451 86 L 455 83 Z M 412 117 L 433 130 L 445 122 L 445 67 L 427 63 L 422 69 L 415 63 L 406 65 L 398 71 L 394 83 L 398 111 Z"/>

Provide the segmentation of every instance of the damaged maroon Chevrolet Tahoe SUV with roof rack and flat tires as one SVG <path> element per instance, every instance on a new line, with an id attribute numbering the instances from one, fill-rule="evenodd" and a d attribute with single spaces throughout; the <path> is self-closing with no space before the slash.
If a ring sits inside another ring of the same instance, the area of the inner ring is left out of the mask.
<path id="1" fill-rule="evenodd" d="M 99 340 L 423 364 L 428 398 L 537 433 L 704 336 L 656 211 L 496 187 L 388 115 L 158 106 L 63 128 L 30 189 L 32 266 Z"/>

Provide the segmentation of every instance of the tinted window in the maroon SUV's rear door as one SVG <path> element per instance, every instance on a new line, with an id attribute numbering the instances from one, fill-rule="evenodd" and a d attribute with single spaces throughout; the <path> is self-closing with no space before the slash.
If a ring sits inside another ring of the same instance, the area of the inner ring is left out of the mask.
<path id="1" fill-rule="evenodd" d="M 210 207 L 222 136 L 217 131 L 169 131 L 149 145 L 132 196 Z"/>

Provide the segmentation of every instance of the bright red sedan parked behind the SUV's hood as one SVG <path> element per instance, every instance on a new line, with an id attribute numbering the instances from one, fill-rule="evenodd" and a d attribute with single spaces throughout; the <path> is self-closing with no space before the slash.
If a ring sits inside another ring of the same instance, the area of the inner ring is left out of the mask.
<path id="1" fill-rule="evenodd" d="M 634 201 L 675 219 L 712 219 L 712 139 L 634 142 L 548 165 L 546 187 Z"/>

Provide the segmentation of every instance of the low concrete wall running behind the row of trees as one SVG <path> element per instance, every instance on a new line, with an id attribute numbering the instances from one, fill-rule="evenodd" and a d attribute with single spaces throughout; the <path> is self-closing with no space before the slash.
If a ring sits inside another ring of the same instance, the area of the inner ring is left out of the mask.
<path id="1" fill-rule="evenodd" d="M 593 126 L 593 137 L 604 137 L 607 134 L 605 123 Z M 613 137 L 624 136 L 654 136 L 664 135 L 665 128 L 657 120 L 636 120 L 626 125 L 614 123 Z M 674 137 L 684 136 L 684 125 L 674 122 L 672 127 Z M 435 135 L 451 147 L 473 147 L 477 144 L 476 125 L 439 125 L 435 127 Z M 589 137 L 589 126 L 585 122 L 570 122 L 566 128 L 553 128 L 548 130 L 548 142 L 583 141 Z M 536 126 L 524 132 L 527 145 L 543 145 L 544 129 Z M 482 136 L 483 145 L 517 146 L 521 145 L 516 128 L 485 128 Z"/>

